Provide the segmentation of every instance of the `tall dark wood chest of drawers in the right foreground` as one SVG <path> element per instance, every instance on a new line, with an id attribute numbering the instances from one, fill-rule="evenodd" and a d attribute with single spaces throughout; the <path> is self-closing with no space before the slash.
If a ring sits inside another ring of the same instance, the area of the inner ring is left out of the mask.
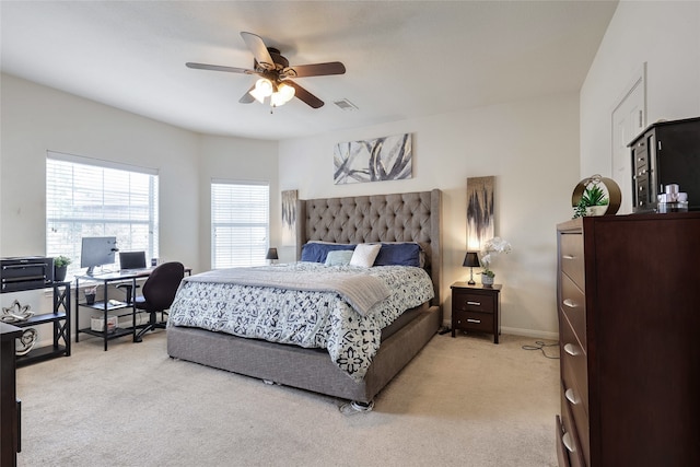
<path id="1" fill-rule="evenodd" d="M 700 465 L 700 213 L 557 235 L 560 466 Z"/>

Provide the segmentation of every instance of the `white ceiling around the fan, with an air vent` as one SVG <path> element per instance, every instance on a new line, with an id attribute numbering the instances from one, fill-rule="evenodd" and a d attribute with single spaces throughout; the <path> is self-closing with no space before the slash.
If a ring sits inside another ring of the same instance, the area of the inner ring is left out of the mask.
<path id="1" fill-rule="evenodd" d="M 8 1 L 3 72 L 194 131 L 287 139 L 580 90 L 617 1 Z M 255 77 L 240 33 L 326 102 L 275 109 L 238 98 Z M 348 112 L 334 102 L 347 98 Z"/>

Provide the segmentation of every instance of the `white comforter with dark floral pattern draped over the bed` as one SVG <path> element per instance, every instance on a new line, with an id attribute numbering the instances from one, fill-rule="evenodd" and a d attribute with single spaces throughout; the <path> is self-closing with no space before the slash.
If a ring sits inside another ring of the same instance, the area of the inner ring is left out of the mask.
<path id="1" fill-rule="evenodd" d="M 332 291 L 294 290 L 244 285 L 231 282 L 201 282 L 186 278 L 170 311 L 168 326 L 188 326 L 234 336 L 291 343 L 305 348 L 325 348 L 338 367 L 354 381 L 361 381 L 380 348 L 382 328 L 405 310 L 433 297 L 430 276 L 410 266 L 324 266 L 295 262 L 254 268 L 262 273 L 279 270 L 314 277 L 318 271 L 371 275 L 392 291 L 365 315 Z M 298 288 L 296 288 L 298 289 Z"/>

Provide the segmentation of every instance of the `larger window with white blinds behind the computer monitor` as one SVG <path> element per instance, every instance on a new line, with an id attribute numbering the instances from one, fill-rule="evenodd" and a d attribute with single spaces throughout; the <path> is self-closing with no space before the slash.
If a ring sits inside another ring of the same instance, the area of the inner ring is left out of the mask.
<path id="1" fill-rule="evenodd" d="M 116 236 L 119 249 L 156 258 L 158 172 L 49 151 L 46 255 L 72 259 L 68 280 L 81 271 L 83 236 Z"/>

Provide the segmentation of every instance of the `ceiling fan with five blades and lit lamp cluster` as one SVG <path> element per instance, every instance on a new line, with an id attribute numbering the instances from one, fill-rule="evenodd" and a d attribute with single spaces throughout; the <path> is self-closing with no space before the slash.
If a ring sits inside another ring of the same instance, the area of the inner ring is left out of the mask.
<path id="1" fill-rule="evenodd" d="M 259 80 L 238 100 L 242 104 L 258 101 L 265 103 L 270 97 L 270 105 L 279 107 L 292 97 L 298 97 L 313 108 L 324 105 L 324 102 L 292 81 L 292 78 L 323 77 L 328 74 L 343 74 L 346 67 L 339 61 L 325 63 L 289 66 L 289 60 L 280 55 L 275 47 L 267 47 L 259 36 L 253 33 L 241 33 L 255 60 L 253 69 L 223 67 L 207 63 L 185 63 L 188 68 L 199 70 L 226 71 L 230 73 L 257 74 Z"/>

